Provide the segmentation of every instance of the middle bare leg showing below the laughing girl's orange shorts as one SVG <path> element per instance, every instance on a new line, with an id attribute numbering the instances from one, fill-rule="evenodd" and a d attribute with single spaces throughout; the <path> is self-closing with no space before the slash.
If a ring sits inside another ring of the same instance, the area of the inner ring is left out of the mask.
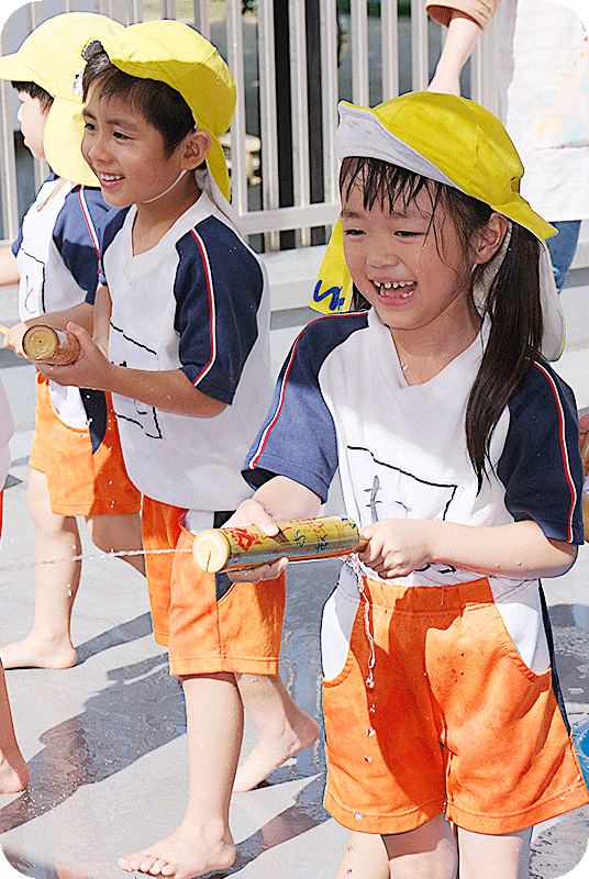
<path id="1" fill-rule="evenodd" d="M 456 879 L 456 841 L 443 814 L 409 833 L 382 836 L 382 841 L 390 879 Z"/>

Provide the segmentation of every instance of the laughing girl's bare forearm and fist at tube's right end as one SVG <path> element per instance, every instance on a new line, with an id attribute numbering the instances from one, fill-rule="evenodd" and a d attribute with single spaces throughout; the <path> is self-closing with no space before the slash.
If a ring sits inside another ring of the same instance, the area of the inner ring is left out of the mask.
<path id="1" fill-rule="evenodd" d="M 363 528 L 365 565 L 385 579 L 403 577 L 433 563 L 477 574 L 532 580 L 565 574 L 577 546 L 545 536 L 536 522 L 474 527 L 454 522 L 385 519 Z"/>

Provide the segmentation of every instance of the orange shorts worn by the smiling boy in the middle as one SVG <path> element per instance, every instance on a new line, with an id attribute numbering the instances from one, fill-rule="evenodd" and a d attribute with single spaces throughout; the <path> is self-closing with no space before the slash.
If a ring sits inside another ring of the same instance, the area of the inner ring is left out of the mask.
<path id="1" fill-rule="evenodd" d="M 185 512 L 144 498 L 153 628 L 158 644 L 168 646 L 170 675 L 278 675 L 285 576 L 254 586 L 205 574 L 192 558 L 193 536 L 181 524 Z"/>

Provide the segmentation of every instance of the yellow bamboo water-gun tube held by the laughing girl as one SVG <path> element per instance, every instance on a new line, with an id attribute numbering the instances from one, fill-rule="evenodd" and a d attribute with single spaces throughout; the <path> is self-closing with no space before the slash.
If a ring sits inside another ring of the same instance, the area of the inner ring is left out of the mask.
<path id="1" fill-rule="evenodd" d="M 357 525 L 346 516 L 277 522 L 279 532 L 268 537 L 256 525 L 205 528 L 195 537 L 192 556 L 204 571 L 216 574 L 267 565 L 278 558 L 307 561 L 362 552 Z"/>

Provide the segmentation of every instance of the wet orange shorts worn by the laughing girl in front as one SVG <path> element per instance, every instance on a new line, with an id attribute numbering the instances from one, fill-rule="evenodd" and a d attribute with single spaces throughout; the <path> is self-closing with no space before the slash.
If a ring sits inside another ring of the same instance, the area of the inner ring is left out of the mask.
<path id="1" fill-rule="evenodd" d="M 487 579 L 364 583 L 368 619 L 360 597 L 345 667 L 323 682 L 324 805 L 340 824 L 397 834 L 445 811 L 505 834 L 589 802 L 551 669 L 521 660 Z"/>

